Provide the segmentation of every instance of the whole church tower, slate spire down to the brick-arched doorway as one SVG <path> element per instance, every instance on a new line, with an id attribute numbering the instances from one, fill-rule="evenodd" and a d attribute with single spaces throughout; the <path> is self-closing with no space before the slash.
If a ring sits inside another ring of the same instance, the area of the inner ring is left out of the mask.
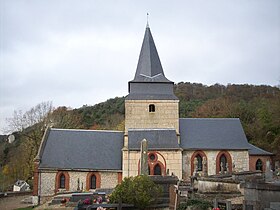
<path id="1" fill-rule="evenodd" d="M 125 98 L 123 177 L 140 174 L 140 142 L 148 143 L 150 175 L 182 174 L 179 100 L 163 72 L 147 25 L 134 79 Z"/>

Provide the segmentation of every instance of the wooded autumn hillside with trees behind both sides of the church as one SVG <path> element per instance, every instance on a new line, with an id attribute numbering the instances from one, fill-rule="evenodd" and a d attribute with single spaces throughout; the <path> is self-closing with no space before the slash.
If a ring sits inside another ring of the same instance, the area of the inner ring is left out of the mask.
<path id="1" fill-rule="evenodd" d="M 280 160 L 280 90 L 271 86 L 178 83 L 180 117 L 240 118 L 249 142 L 276 154 Z M 16 179 L 31 180 L 33 159 L 47 126 L 55 128 L 124 129 L 124 97 L 78 109 L 43 102 L 28 112 L 15 111 L 9 120 L 16 140 L 0 138 L 0 188 Z M 1 190 L 1 189 L 0 189 Z M 3 189 L 2 189 L 3 190 Z"/>

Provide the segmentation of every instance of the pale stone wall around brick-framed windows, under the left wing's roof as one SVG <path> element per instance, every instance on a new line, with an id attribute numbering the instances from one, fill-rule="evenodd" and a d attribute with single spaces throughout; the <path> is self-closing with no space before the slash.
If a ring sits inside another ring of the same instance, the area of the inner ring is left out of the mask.
<path id="1" fill-rule="evenodd" d="M 69 174 L 69 191 L 77 191 L 78 179 L 80 182 L 80 190 L 83 185 L 83 190 L 86 190 L 86 178 L 90 172 L 83 171 L 68 171 Z M 118 184 L 119 173 L 102 171 L 100 174 L 100 188 L 114 188 Z M 55 178 L 57 171 L 42 171 L 39 178 L 39 195 L 49 196 L 55 193 Z"/>

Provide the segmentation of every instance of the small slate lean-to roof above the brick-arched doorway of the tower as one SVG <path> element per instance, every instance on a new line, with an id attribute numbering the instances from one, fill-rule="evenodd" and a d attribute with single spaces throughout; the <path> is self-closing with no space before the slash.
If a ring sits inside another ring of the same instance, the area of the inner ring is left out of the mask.
<path id="1" fill-rule="evenodd" d="M 176 130 L 174 129 L 129 129 L 128 148 L 140 150 L 141 141 L 148 141 L 149 150 L 180 149 Z"/>

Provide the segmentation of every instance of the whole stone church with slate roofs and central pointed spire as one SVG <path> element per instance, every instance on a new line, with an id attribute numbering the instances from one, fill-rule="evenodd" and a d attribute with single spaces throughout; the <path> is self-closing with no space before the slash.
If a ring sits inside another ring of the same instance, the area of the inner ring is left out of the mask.
<path id="1" fill-rule="evenodd" d="M 125 98 L 125 130 L 48 128 L 34 161 L 34 195 L 112 189 L 140 173 L 141 141 L 149 175 L 192 175 L 265 169 L 273 154 L 249 144 L 238 118 L 179 118 L 174 83 L 164 74 L 147 25 Z"/>

